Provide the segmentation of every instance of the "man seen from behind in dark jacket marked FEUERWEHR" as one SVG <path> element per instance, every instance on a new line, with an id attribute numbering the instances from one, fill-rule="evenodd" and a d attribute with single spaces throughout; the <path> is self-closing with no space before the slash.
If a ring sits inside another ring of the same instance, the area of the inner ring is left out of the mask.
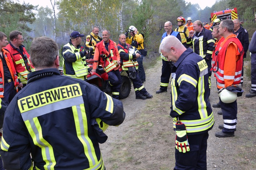
<path id="1" fill-rule="evenodd" d="M 28 74 L 27 86 L 5 112 L 4 169 L 105 170 L 98 144 L 106 141 L 101 128 L 122 124 L 122 102 L 61 75 L 58 45 L 49 37 L 35 39 L 30 53 L 36 71 Z"/>

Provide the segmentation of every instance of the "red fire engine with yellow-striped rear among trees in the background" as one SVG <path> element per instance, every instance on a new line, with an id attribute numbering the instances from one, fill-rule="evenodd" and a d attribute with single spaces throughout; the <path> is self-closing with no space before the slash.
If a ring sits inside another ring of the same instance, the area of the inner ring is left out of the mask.
<path id="1" fill-rule="evenodd" d="M 237 16 L 237 8 L 234 9 L 226 9 L 226 10 L 222 10 L 222 11 L 215 11 L 213 13 L 211 13 L 211 18 L 210 21 L 214 21 L 215 19 L 220 19 L 220 21 L 224 20 L 224 19 L 238 19 Z"/>

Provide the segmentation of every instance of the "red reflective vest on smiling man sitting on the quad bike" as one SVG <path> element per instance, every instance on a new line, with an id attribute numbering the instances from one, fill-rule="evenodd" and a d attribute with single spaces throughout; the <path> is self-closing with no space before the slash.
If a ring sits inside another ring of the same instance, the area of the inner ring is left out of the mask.
<path id="1" fill-rule="evenodd" d="M 117 54 L 119 55 L 119 53 L 118 53 L 117 45 L 114 41 L 109 40 L 109 51 L 107 51 L 105 48 L 106 46 L 104 44 L 104 40 L 102 40 L 95 46 L 98 48 L 100 55 L 103 54 L 107 56 L 106 59 L 103 59 L 101 56 L 99 56 L 99 61 L 98 61 L 107 73 L 114 69 L 116 70 L 116 68 L 120 67 L 117 64 L 117 59 L 118 59 Z M 94 53 L 94 57 L 95 57 L 95 53 Z M 119 57 L 119 60 L 120 60 L 120 57 Z"/>

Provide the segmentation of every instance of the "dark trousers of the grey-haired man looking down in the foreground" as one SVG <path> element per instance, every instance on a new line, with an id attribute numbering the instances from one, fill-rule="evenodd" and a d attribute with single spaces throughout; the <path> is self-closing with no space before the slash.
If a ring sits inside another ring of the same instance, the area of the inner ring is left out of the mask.
<path id="1" fill-rule="evenodd" d="M 199 135 L 187 135 L 189 152 L 179 152 L 175 149 L 174 170 L 207 170 L 206 150 L 208 132 Z M 173 141 L 174 142 L 174 141 Z M 173 146 L 175 146 L 173 144 Z"/>

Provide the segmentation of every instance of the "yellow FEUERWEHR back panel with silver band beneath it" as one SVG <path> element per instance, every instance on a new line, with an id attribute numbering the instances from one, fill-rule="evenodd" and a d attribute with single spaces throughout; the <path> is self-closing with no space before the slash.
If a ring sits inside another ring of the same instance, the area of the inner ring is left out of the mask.
<path id="1" fill-rule="evenodd" d="M 79 84 L 61 86 L 36 93 L 18 100 L 23 121 L 79 104 L 83 104 Z"/>

